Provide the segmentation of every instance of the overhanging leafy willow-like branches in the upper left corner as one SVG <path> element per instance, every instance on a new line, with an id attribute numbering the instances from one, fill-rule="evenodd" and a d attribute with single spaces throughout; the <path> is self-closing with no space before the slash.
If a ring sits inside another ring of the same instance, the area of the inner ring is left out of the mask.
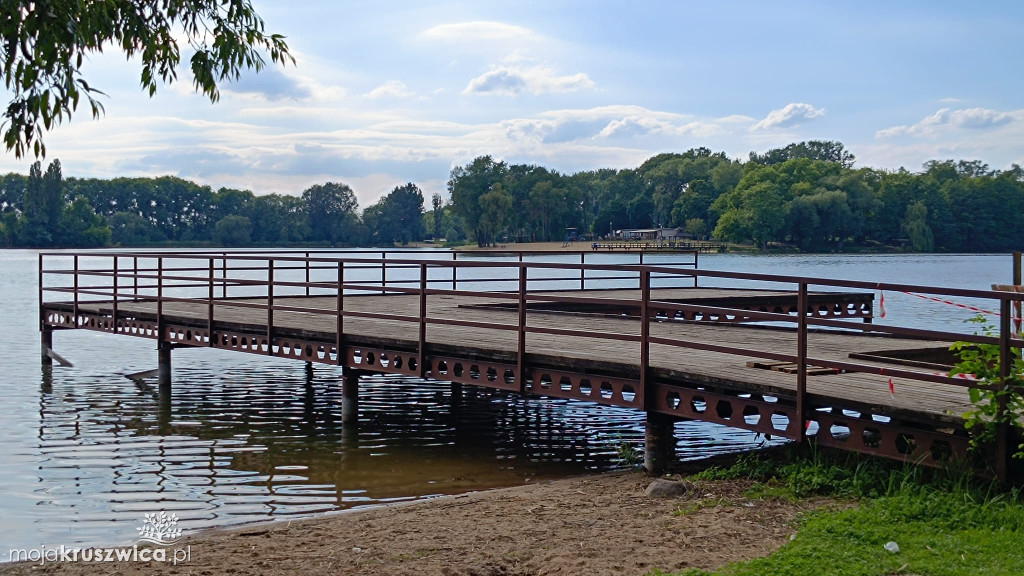
<path id="1" fill-rule="evenodd" d="M 267 34 L 249 0 L 105 0 L 0 3 L 0 59 L 11 92 L 4 112 L 7 150 L 45 156 L 42 136 L 70 120 L 82 96 L 94 118 L 102 94 L 82 75 L 86 58 L 120 47 L 141 60 L 142 88 L 152 96 L 160 81 L 177 77 L 178 43 L 193 51 L 196 89 L 211 101 L 218 83 L 237 80 L 243 69 L 261 70 L 263 52 L 275 63 L 294 63 L 283 36 Z"/>

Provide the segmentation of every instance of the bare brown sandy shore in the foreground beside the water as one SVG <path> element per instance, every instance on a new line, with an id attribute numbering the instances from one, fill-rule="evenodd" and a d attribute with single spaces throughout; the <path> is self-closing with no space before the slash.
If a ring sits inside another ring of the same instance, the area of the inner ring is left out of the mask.
<path id="1" fill-rule="evenodd" d="M 744 483 L 648 497 L 639 472 L 567 479 L 318 519 L 211 531 L 183 565 L 8 565 L 0 574 L 622 575 L 765 556 L 809 504 L 750 500 Z"/>

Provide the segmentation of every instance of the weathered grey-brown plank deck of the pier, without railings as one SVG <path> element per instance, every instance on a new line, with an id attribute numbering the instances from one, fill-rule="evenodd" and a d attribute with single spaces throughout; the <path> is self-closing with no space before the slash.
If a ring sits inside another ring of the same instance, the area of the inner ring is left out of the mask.
<path id="1" fill-rule="evenodd" d="M 538 293 L 537 295 L 555 295 Z M 638 300 L 637 290 L 587 291 L 590 298 L 604 298 L 609 302 L 624 299 Z M 557 295 L 564 296 L 563 292 Z M 659 301 L 699 302 L 713 300 L 722 303 L 729 298 L 743 300 L 761 298 L 771 301 L 788 298 L 783 292 L 758 292 L 721 289 L 652 290 Z M 214 304 L 214 323 L 218 330 L 236 334 L 260 336 L 266 333 L 266 313 L 260 307 L 264 298 L 224 299 Z M 279 298 L 276 305 L 316 308 L 326 314 L 282 311 L 274 314 L 274 335 L 302 342 L 331 343 L 337 340 L 337 321 L 332 313 L 336 298 L 309 296 Z M 359 295 L 346 296 L 345 310 L 352 314 L 396 315 L 416 319 L 419 297 L 416 295 Z M 508 299 L 431 296 L 427 299 L 427 317 L 430 319 L 459 319 L 466 323 L 514 326 L 517 311 L 508 307 Z M 48 310 L 70 312 L 70 303 L 53 303 Z M 639 337 L 640 322 L 637 318 L 617 312 L 609 303 L 609 314 L 598 312 L 534 311 L 528 315 L 531 329 L 558 329 L 613 333 Z M 80 304 L 80 313 L 110 317 L 110 302 Z M 164 322 L 175 327 L 202 330 L 207 323 L 207 306 L 200 302 L 168 302 L 164 304 Z M 155 302 L 122 303 L 119 315 L 136 321 L 156 322 Z M 797 334 L 792 329 L 763 326 L 691 323 L 665 320 L 653 323 L 651 335 L 692 342 L 715 342 L 737 349 L 777 351 L 795 354 Z M 354 348 L 401 351 L 415 354 L 418 345 L 416 325 L 408 321 L 378 318 L 348 318 L 344 324 L 346 345 Z M 187 342 L 184 342 L 187 343 Z M 199 342 L 197 342 L 199 343 Z M 426 331 L 428 356 L 455 359 L 477 359 L 481 363 L 513 364 L 516 360 L 516 332 L 473 326 L 429 325 Z M 884 335 L 841 333 L 821 330 L 809 335 L 808 349 L 811 358 L 835 362 L 850 362 L 851 354 L 868 354 L 878 351 L 922 348 L 947 348 L 951 342 L 895 338 Z M 565 337 L 552 334 L 530 334 L 526 340 L 527 362 L 537 369 L 556 372 L 577 372 L 623 379 L 638 378 L 640 346 L 601 337 Z M 794 374 L 748 366 L 756 358 L 735 356 L 721 352 L 688 349 L 652 344 L 650 367 L 656 379 L 701 386 L 722 393 L 759 394 L 791 398 L 796 392 Z M 893 366 L 881 362 L 863 362 L 867 365 Z M 370 367 L 364 367 L 371 369 Z M 387 371 L 384 367 L 378 368 Z M 443 379 L 441 375 L 436 375 Z M 896 381 L 890 394 L 889 378 L 885 375 L 864 373 L 820 374 L 808 377 L 808 394 L 819 406 L 841 406 L 847 410 L 866 414 L 898 417 L 919 422 L 941 422 L 961 425 L 958 414 L 970 408 L 966 388 L 949 384 L 922 381 Z M 485 380 L 482 382 L 486 384 Z M 534 390 L 539 392 L 539 390 Z"/>

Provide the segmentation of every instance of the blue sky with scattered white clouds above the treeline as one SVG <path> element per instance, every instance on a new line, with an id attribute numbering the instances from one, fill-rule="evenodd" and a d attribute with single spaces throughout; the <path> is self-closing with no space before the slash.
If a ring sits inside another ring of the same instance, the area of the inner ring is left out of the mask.
<path id="1" fill-rule="evenodd" d="M 83 74 L 105 114 L 80 108 L 46 134 L 46 160 L 66 177 L 171 174 L 257 195 L 341 181 L 360 207 L 409 181 L 446 194 L 452 168 L 481 155 L 573 173 L 829 139 L 857 166 L 1024 165 L 1017 0 L 254 6 L 295 66 L 246 72 L 211 104 L 187 52 L 152 98 L 137 60 L 93 54 Z M 32 160 L 5 152 L 0 171 Z"/>

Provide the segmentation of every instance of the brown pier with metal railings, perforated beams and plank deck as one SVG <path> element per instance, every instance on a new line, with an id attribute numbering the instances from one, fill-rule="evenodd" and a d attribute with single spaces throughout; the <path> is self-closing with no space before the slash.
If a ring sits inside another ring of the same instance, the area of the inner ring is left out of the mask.
<path id="1" fill-rule="evenodd" d="M 969 388 L 988 385 L 948 376 L 950 343 L 1024 343 L 1009 328 L 987 337 L 870 323 L 874 289 L 990 298 L 1009 319 L 1022 295 L 1007 292 L 700 271 L 695 256 L 403 256 L 42 254 L 43 343 L 75 328 L 155 339 L 168 395 L 178 346 L 341 366 L 347 420 L 364 373 L 634 408 L 647 414 L 652 471 L 680 418 L 941 465 L 967 451 Z M 715 287 L 723 281 L 793 289 Z M 993 465 L 1005 476 L 1006 454 Z"/>

